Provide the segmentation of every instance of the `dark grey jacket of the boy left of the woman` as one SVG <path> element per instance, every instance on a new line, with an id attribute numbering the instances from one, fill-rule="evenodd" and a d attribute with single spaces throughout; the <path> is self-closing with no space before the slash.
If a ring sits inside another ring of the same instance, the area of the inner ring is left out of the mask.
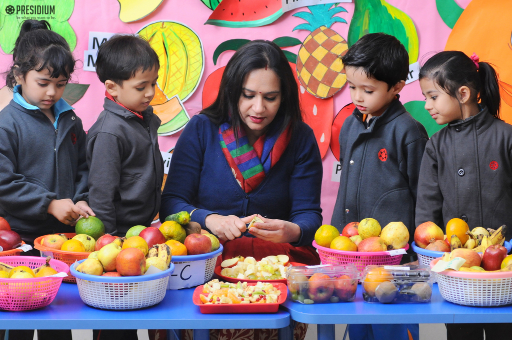
<path id="1" fill-rule="evenodd" d="M 150 226 L 160 209 L 160 119 L 151 106 L 143 120 L 108 98 L 103 108 L 87 134 L 89 205 L 106 233 L 124 236 L 134 225 Z"/>

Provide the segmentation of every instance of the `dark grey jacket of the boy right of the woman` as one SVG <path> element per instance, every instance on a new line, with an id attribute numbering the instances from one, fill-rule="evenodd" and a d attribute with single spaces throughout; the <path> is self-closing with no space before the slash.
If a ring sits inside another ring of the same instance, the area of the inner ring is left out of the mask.
<path id="1" fill-rule="evenodd" d="M 331 224 L 342 231 L 347 223 L 368 217 L 382 228 L 401 221 L 413 235 L 419 167 L 428 139 L 398 99 L 368 129 L 355 109 L 339 133 L 342 174 Z"/>

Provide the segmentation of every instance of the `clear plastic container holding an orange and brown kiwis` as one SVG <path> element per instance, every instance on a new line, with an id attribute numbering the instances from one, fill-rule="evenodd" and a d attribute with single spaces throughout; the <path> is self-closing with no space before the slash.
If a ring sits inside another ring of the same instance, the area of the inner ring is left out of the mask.
<path id="1" fill-rule="evenodd" d="M 370 303 L 430 302 L 434 276 L 419 266 L 367 266 L 361 273 L 362 298 Z"/>

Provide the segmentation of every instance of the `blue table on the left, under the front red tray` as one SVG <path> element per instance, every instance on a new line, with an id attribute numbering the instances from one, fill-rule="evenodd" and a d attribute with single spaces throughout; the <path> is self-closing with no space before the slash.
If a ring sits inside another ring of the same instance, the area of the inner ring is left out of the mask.
<path id="1" fill-rule="evenodd" d="M 209 329 L 276 328 L 291 337 L 290 314 L 201 314 L 192 302 L 194 288 L 167 290 L 158 305 L 138 310 L 102 310 L 84 304 L 76 284 L 62 283 L 53 302 L 32 311 L 0 310 L 0 329 L 194 329 L 195 339 L 209 339 Z"/>

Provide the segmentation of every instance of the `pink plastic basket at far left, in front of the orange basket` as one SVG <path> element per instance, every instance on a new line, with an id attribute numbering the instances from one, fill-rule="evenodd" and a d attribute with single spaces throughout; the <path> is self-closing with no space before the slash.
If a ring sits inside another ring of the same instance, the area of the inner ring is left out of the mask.
<path id="1" fill-rule="evenodd" d="M 11 266 L 27 266 L 35 269 L 46 262 L 44 257 L 8 256 L 2 262 Z M 50 266 L 58 272 L 69 272 L 69 266 L 59 260 L 51 259 Z M 41 277 L 31 279 L 0 278 L 0 309 L 20 311 L 48 306 L 59 290 L 62 278 Z"/>

